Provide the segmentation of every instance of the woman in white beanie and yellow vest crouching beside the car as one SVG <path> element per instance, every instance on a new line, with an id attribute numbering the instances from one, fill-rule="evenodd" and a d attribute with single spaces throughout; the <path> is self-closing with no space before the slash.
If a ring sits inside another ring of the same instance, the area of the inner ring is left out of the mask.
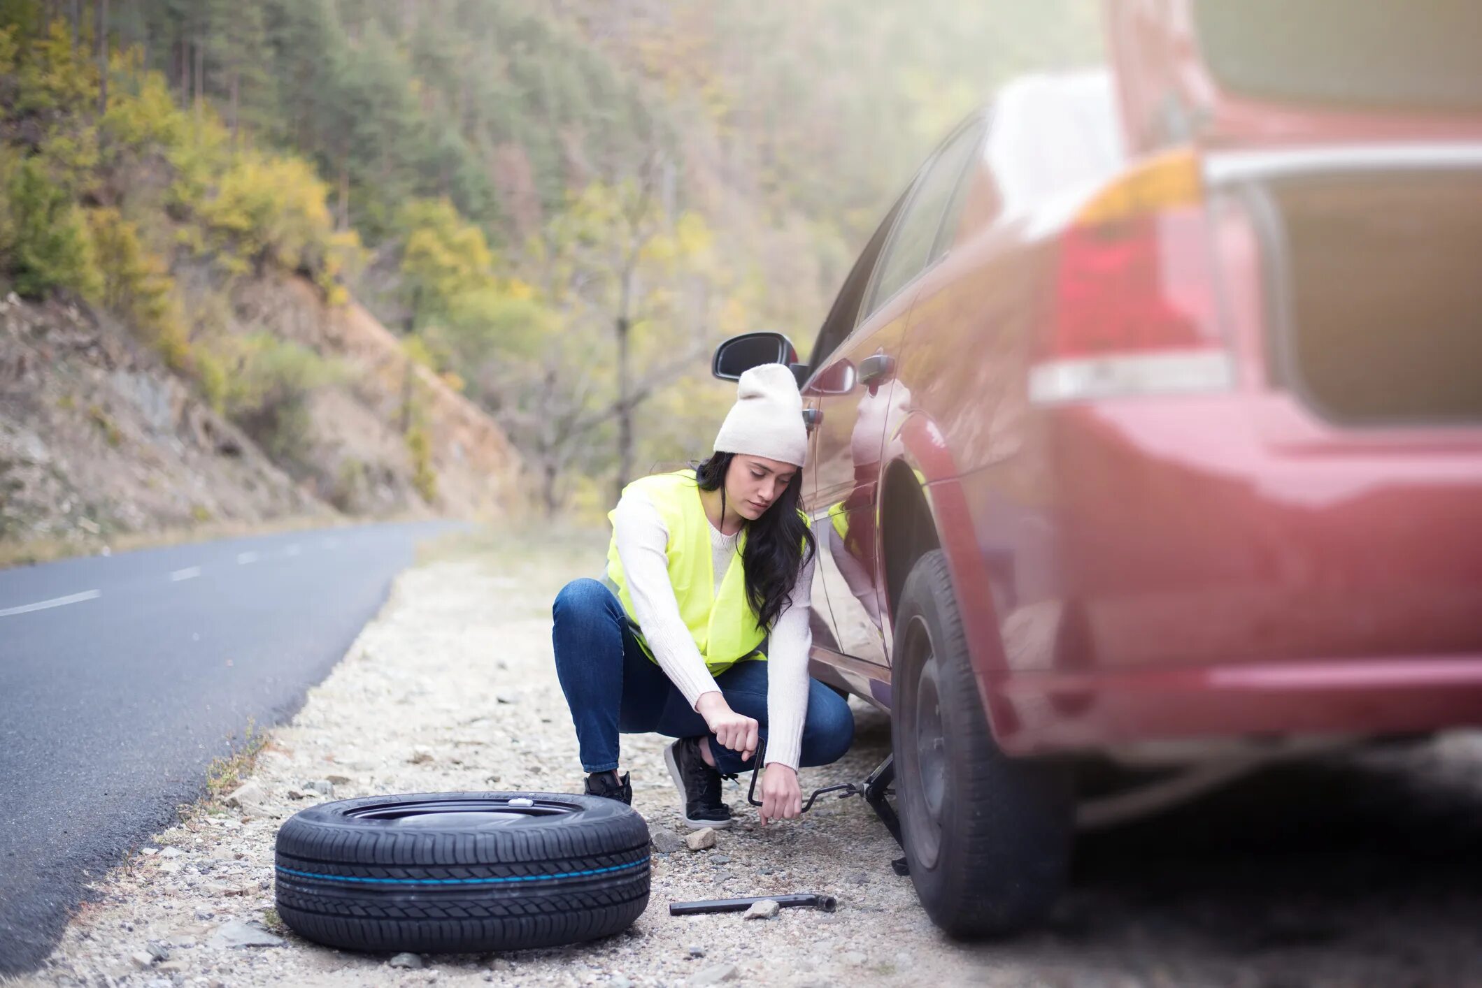
<path id="1" fill-rule="evenodd" d="M 556 597 L 556 672 L 581 745 L 587 792 L 630 803 L 618 733 L 677 738 L 664 761 L 691 827 L 729 827 L 722 775 L 766 741 L 762 822 L 802 812 L 797 767 L 854 741 L 842 696 L 808 677 L 817 545 L 797 510 L 808 453 L 793 373 L 741 375 L 714 455 L 628 484 L 612 520 L 606 579 Z"/>

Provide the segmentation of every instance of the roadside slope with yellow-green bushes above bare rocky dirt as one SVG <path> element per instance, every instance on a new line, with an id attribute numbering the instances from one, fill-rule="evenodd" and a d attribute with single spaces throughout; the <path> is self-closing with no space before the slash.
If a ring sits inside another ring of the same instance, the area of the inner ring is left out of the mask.
<path id="1" fill-rule="evenodd" d="M 356 305 L 362 246 L 307 161 L 181 105 L 139 50 L 104 71 L 76 25 L 0 7 L 0 555 L 511 507 L 519 458 Z"/>

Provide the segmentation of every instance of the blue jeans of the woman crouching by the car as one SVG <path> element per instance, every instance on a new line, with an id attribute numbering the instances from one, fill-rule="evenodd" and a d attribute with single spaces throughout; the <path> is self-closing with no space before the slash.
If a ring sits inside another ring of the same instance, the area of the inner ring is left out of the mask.
<path id="1" fill-rule="evenodd" d="M 594 579 L 576 579 L 556 595 L 551 641 L 556 675 L 571 707 L 581 744 L 581 767 L 608 772 L 618 767 L 618 733 L 657 732 L 670 738 L 708 735 L 705 718 L 685 699 L 664 671 L 639 647 L 622 604 Z M 716 677 L 731 710 L 754 717 L 766 738 L 766 662 L 737 662 Z M 828 764 L 843 757 L 854 741 L 849 704 L 818 680 L 808 681 L 803 721 L 803 766 Z M 722 773 L 751 769 L 756 758 L 722 748 L 710 751 Z"/>

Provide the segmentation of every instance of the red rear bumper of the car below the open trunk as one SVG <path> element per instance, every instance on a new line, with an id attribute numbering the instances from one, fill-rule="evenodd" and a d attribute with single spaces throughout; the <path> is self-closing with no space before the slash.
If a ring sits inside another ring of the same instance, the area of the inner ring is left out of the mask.
<path id="1" fill-rule="evenodd" d="M 1008 751 L 1482 723 L 1482 435 L 1239 393 L 1036 419 L 954 481 L 975 545 L 948 550 L 993 588 Z"/>

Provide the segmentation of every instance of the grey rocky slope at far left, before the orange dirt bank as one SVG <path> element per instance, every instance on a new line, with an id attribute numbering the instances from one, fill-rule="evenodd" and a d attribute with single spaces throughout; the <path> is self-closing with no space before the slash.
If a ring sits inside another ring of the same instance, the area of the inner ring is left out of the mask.
<path id="1" fill-rule="evenodd" d="M 0 542 L 333 511 L 113 320 L 0 301 Z"/>

